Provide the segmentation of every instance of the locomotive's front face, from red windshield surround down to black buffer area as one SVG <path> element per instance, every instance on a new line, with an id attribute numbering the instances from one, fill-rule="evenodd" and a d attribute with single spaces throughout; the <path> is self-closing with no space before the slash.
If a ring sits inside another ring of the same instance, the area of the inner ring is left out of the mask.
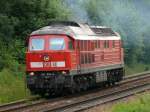
<path id="1" fill-rule="evenodd" d="M 44 94 L 62 89 L 71 67 L 69 38 L 65 35 L 33 35 L 26 53 L 27 87 Z"/>

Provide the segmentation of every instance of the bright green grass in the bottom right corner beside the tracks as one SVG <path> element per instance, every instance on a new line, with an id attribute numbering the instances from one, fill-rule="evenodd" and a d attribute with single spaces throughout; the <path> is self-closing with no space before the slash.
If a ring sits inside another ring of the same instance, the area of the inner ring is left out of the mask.
<path id="1" fill-rule="evenodd" d="M 150 112 L 150 93 L 127 103 L 116 104 L 112 107 L 112 112 Z"/>

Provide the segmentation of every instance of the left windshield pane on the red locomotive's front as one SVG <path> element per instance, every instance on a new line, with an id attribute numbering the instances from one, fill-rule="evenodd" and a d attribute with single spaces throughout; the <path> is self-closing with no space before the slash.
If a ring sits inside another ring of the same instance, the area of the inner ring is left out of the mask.
<path id="1" fill-rule="evenodd" d="M 32 39 L 30 45 L 31 51 L 44 50 L 44 39 Z"/>

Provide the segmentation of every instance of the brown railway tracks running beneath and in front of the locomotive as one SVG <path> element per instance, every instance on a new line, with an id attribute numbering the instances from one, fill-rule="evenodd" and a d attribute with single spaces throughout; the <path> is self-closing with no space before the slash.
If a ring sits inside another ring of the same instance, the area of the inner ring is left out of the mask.
<path id="1" fill-rule="evenodd" d="M 144 75 L 143 75 L 144 74 Z M 90 90 L 50 100 L 18 101 L 0 106 L 0 112 L 76 112 L 118 100 L 150 89 L 150 73 L 125 77 L 122 82 L 105 89 Z"/>

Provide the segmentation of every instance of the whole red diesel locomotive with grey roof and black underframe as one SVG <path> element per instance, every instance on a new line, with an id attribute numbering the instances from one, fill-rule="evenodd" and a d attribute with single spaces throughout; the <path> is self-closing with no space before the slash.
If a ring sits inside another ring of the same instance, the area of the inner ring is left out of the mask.
<path id="1" fill-rule="evenodd" d="M 30 34 L 26 73 L 27 87 L 41 95 L 114 84 L 124 75 L 121 38 L 107 27 L 50 22 Z"/>

